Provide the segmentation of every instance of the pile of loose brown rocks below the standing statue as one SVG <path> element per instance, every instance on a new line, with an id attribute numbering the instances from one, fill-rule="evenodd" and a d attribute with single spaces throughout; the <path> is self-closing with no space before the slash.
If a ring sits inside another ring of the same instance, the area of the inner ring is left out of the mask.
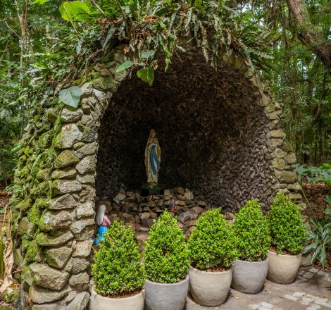
<path id="1" fill-rule="evenodd" d="M 99 204 L 101 203 L 106 205 L 108 218 L 112 223 L 123 221 L 137 233 L 148 232 L 154 220 L 168 209 L 177 216 L 178 225 L 187 237 L 192 233 L 200 214 L 211 208 L 206 202 L 195 199 L 193 192 L 183 187 L 165 190 L 163 195 L 147 197 L 141 197 L 139 192 L 120 190 L 113 199 L 100 201 Z M 227 212 L 225 215 L 229 221 L 234 218 L 233 213 Z"/>

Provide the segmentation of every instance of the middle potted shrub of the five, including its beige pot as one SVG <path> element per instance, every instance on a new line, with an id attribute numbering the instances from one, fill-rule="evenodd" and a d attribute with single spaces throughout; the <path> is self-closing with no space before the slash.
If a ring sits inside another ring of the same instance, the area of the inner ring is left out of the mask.
<path id="1" fill-rule="evenodd" d="M 219 306 L 225 302 L 236 258 L 234 237 L 220 209 L 209 209 L 196 222 L 188 247 L 189 287 L 195 302 Z"/>

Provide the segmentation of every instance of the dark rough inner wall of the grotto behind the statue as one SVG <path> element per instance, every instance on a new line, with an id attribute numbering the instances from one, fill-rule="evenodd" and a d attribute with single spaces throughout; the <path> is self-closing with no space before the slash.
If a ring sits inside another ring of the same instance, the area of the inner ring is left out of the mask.
<path id="1" fill-rule="evenodd" d="M 132 73 L 101 121 L 96 194 L 144 185 L 144 147 L 154 128 L 165 188 L 189 187 L 228 211 L 250 198 L 268 205 L 275 183 L 263 152 L 269 123 L 251 81 L 227 63 L 216 71 L 199 51 L 181 54 L 167 72 L 161 66 L 151 87 Z"/>

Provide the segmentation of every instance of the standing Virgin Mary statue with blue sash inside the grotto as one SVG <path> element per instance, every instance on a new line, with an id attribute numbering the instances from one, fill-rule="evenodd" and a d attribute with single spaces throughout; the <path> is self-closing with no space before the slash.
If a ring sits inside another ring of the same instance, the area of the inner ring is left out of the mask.
<path id="1" fill-rule="evenodd" d="M 161 163 L 161 149 L 156 138 L 156 132 L 151 129 L 149 132 L 149 140 L 147 140 L 145 149 L 145 166 L 148 185 L 154 186 L 158 184 L 158 171 Z"/>

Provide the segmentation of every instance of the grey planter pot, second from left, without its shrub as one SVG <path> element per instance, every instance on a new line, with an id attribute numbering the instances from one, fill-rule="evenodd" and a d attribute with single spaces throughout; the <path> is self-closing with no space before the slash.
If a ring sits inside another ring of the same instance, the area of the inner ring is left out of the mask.
<path id="1" fill-rule="evenodd" d="M 145 281 L 145 310 L 182 310 L 189 290 L 189 277 L 177 283 Z"/>

